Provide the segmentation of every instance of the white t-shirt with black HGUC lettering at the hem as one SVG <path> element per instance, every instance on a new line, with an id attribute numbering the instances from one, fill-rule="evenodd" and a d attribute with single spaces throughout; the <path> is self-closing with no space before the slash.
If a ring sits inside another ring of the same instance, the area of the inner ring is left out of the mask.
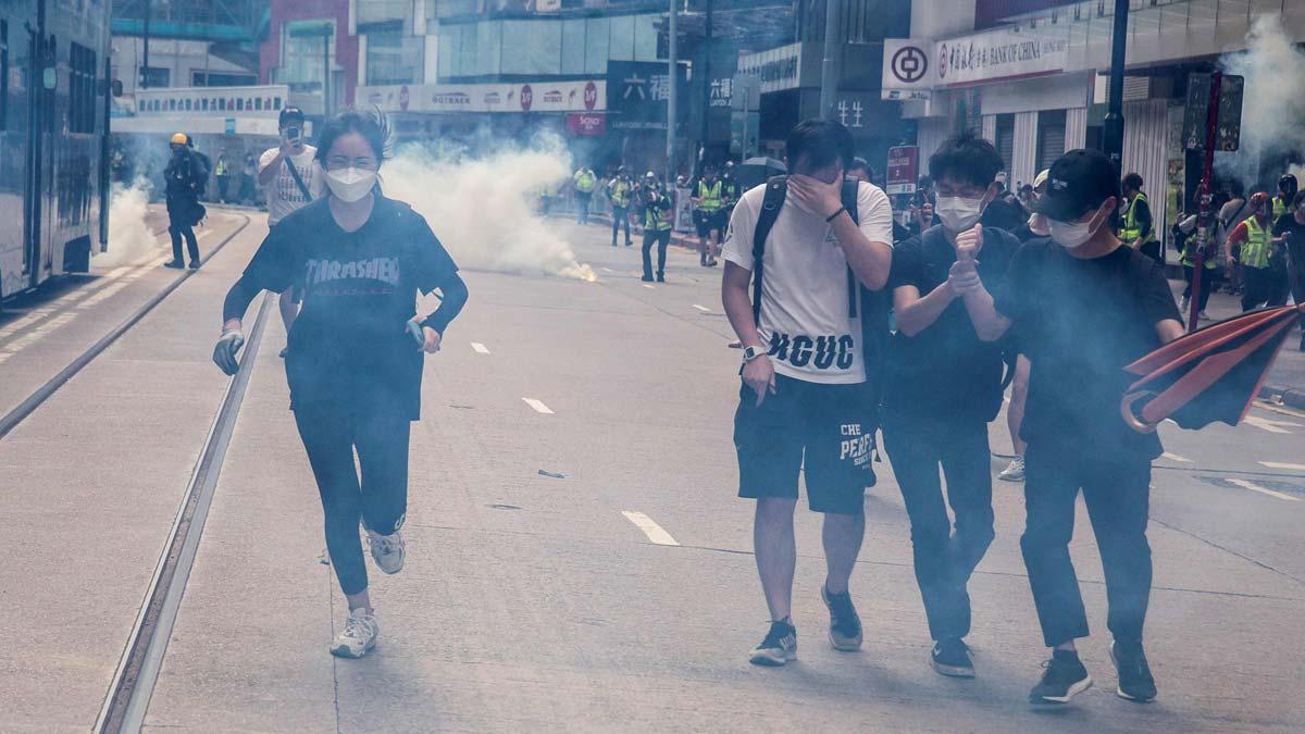
<path id="1" fill-rule="evenodd" d="M 748 270 L 765 197 L 765 184 L 748 191 L 729 218 L 724 259 Z M 891 247 L 893 206 L 883 191 L 861 183 L 856 209 L 865 236 Z M 775 372 L 808 383 L 864 383 L 861 304 L 856 317 L 848 316 L 848 265 L 833 225 L 786 199 L 766 238 L 763 265 L 757 330 L 770 343 Z"/>

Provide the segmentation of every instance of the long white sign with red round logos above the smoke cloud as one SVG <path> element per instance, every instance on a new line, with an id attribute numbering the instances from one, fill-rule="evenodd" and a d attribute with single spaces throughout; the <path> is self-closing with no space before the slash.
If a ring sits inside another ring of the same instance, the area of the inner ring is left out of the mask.
<path id="1" fill-rule="evenodd" d="M 358 98 L 384 112 L 594 112 L 607 108 L 607 82 L 363 86 Z"/>

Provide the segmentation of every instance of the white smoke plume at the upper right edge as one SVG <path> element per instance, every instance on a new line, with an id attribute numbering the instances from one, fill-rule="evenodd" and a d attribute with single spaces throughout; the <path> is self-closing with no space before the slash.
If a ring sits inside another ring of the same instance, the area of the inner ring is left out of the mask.
<path id="1" fill-rule="evenodd" d="M 1251 187 L 1263 183 L 1262 155 L 1305 154 L 1305 52 L 1287 37 L 1278 16 L 1259 16 L 1246 34 L 1246 51 L 1224 56 L 1220 67 L 1246 77 L 1246 89 L 1241 150 L 1216 154 L 1215 168 Z"/>

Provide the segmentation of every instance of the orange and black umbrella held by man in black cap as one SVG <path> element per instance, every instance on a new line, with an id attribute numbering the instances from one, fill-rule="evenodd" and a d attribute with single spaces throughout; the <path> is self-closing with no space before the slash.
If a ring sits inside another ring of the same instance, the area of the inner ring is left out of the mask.
<path id="1" fill-rule="evenodd" d="M 1259 394 L 1268 370 L 1305 306 L 1248 311 L 1211 324 L 1129 364 L 1141 379 L 1129 385 L 1124 422 L 1151 432 L 1165 418 L 1184 428 L 1221 421 L 1236 426 Z"/>

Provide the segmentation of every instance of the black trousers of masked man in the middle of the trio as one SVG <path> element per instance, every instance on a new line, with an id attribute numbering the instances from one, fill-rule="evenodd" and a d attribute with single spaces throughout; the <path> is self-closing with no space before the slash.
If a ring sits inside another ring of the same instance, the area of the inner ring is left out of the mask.
<path id="1" fill-rule="evenodd" d="M 883 448 L 911 519 L 915 580 L 929 635 L 964 637 L 970 633 L 966 585 L 993 539 L 988 423 L 887 415 Z M 947 479 L 946 499 L 940 466 Z"/>

